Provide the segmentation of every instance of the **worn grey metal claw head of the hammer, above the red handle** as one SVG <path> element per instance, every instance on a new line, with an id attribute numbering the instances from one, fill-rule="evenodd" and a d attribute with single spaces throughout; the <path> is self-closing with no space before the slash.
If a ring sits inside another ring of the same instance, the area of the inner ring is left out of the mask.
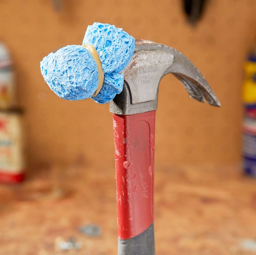
<path id="1" fill-rule="evenodd" d="M 218 98 L 199 70 L 182 53 L 166 45 L 136 40 L 135 51 L 124 71 L 124 89 L 109 104 L 110 112 L 131 115 L 157 109 L 158 86 L 163 76 L 172 73 L 189 96 L 213 106 Z"/>

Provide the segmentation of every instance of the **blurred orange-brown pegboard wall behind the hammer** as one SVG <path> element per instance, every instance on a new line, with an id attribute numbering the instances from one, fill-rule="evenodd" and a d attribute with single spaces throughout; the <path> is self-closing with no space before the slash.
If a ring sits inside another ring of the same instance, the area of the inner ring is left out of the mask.
<path id="1" fill-rule="evenodd" d="M 179 0 L 63 0 L 60 12 L 50 0 L 0 0 L 0 38 L 15 62 L 30 165 L 84 159 L 114 166 L 108 104 L 58 98 L 39 68 L 48 53 L 81 44 L 95 21 L 180 50 L 222 103 L 214 108 L 194 101 L 176 78 L 165 76 L 159 88 L 157 163 L 239 161 L 243 63 L 256 36 L 255 13 L 255 0 L 210 0 L 200 22 L 191 26 Z"/>

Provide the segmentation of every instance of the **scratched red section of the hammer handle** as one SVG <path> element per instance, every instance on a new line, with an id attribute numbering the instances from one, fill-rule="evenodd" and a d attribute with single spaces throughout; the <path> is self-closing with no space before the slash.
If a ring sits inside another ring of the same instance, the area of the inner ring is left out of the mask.
<path id="1" fill-rule="evenodd" d="M 130 239 L 154 221 L 155 111 L 113 114 L 119 239 Z"/>

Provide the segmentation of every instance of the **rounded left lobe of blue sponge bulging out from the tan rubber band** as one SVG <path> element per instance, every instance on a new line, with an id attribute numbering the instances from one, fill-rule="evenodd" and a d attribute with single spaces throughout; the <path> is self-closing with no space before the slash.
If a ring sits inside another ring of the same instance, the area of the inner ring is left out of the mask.
<path id="1" fill-rule="evenodd" d="M 79 45 L 68 45 L 44 57 L 41 73 L 50 89 L 67 100 L 88 98 L 98 86 L 97 64 Z"/>

